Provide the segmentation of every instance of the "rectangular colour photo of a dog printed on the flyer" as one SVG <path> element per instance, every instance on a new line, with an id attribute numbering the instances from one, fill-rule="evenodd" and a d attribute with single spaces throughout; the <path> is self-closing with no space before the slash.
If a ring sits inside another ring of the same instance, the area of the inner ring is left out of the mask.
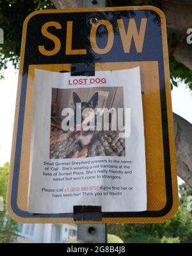
<path id="1" fill-rule="evenodd" d="M 70 117 L 62 115 L 67 107 L 73 111 Z M 122 87 L 52 89 L 50 158 L 125 156 L 119 131 L 104 131 L 98 122 L 106 107 L 124 107 Z M 110 127 L 110 115 L 108 122 Z"/>

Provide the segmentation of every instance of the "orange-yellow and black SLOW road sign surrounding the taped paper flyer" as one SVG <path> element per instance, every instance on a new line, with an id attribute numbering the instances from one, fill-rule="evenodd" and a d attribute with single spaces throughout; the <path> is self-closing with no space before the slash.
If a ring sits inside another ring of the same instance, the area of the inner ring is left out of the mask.
<path id="1" fill-rule="evenodd" d="M 26 195 L 27 198 L 28 182 L 25 185 L 20 179 L 22 176 L 25 176 L 25 180 L 29 179 L 29 173 L 26 171 L 27 174 L 24 174 L 21 166 L 29 165 L 25 162 L 28 160 L 22 158 L 22 147 L 28 143 L 24 138 L 24 124 L 27 122 L 28 81 L 33 79 L 30 67 L 44 65 L 45 69 L 50 70 L 50 67 L 58 66 L 58 71 L 66 71 L 67 64 L 74 75 L 92 75 L 100 67 L 111 70 L 140 66 L 142 84 L 142 80 L 145 83 L 150 81 L 148 76 L 152 74 L 148 70 L 149 63 L 156 63 L 154 76 L 157 84 L 150 85 L 149 91 L 144 92 L 144 123 L 146 133 L 148 127 L 159 131 L 161 136 L 155 134 L 154 138 L 158 138 L 162 145 L 151 143 L 153 134 L 146 134 L 148 210 L 102 212 L 103 223 L 163 222 L 177 210 L 177 175 L 164 15 L 152 6 L 46 10 L 29 15 L 22 39 L 19 97 L 8 191 L 8 211 L 14 219 L 34 223 L 71 223 L 74 217 L 73 213 L 29 214 L 25 210 L 26 199 L 22 196 Z M 154 95 L 159 95 L 161 104 L 158 115 L 150 116 L 145 113 L 145 105 Z M 157 126 L 159 122 L 161 127 Z M 160 165 L 156 162 L 159 158 L 162 158 Z"/>

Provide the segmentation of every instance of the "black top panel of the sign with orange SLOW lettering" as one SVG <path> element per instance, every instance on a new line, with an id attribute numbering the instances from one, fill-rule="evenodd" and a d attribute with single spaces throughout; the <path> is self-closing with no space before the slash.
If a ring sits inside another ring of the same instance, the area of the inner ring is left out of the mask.
<path id="1" fill-rule="evenodd" d="M 152 60 L 163 65 L 161 18 L 152 10 L 36 14 L 28 21 L 25 69 L 29 64 Z"/>

